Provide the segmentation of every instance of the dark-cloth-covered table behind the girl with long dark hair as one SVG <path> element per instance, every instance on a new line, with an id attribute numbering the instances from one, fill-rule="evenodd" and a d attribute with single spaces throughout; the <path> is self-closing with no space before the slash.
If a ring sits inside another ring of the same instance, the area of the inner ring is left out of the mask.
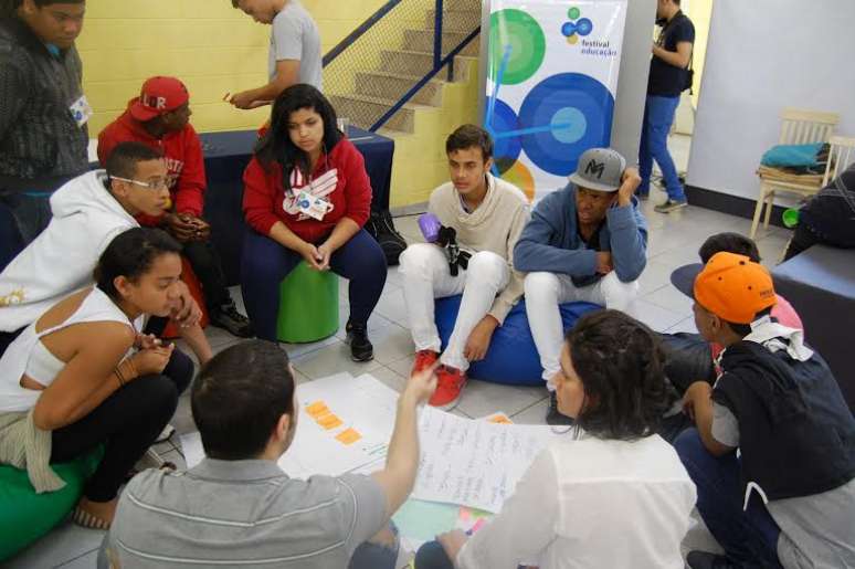
<path id="1" fill-rule="evenodd" d="M 229 285 L 235 285 L 240 283 L 241 250 L 247 230 L 241 208 L 243 170 L 252 157 L 257 131 L 234 130 L 199 136 L 202 139 L 208 176 L 204 218 L 211 223 L 211 240 L 222 257 L 225 281 Z M 388 210 L 394 141 L 355 126 L 348 127 L 348 138 L 366 159 L 366 170 L 373 190 L 371 209 Z"/>

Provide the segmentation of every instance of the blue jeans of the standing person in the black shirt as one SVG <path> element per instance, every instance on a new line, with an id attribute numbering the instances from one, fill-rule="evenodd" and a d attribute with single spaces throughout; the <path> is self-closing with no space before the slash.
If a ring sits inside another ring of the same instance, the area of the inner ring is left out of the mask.
<path id="1" fill-rule="evenodd" d="M 677 177 L 677 168 L 668 152 L 668 133 L 674 123 L 674 113 L 679 105 L 679 97 L 657 97 L 647 95 L 644 106 L 644 124 L 642 125 L 642 139 L 638 148 L 638 169 L 642 182 L 637 192 L 646 196 L 651 190 L 651 172 L 653 160 L 659 165 L 662 178 L 668 199 L 686 201 L 683 185 Z"/>

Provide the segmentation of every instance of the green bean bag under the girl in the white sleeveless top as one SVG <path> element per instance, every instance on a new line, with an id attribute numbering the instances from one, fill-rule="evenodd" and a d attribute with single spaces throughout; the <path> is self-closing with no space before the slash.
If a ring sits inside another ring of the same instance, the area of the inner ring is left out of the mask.
<path id="1" fill-rule="evenodd" d="M 65 519 L 103 455 L 104 450 L 98 446 L 74 461 L 53 464 L 54 472 L 65 481 L 65 487 L 43 494 L 33 491 L 25 471 L 0 465 L 0 561 L 9 559 Z"/>

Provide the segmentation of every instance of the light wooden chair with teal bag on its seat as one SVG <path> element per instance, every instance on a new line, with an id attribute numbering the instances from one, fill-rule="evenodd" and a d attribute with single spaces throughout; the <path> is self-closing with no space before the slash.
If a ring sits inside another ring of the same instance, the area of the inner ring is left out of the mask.
<path id="1" fill-rule="evenodd" d="M 801 110 L 798 108 L 784 108 L 781 112 L 781 136 L 779 145 L 808 145 L 814 143 L 827 143 L 840 123 L 836 113 L 820 113 L 815 110 Z M 831 165 L 831 160 L 828 160 Z M 827 168 L 826 168 L 827 170 Z M 769 229 L 769 219 L 772 215 L 775 192 L 790 192 L 809 198 L 823 187 L 823 176 L 820 175 L 791 175 L 777 168 L 760 167 L 760 196 L 757 198 L 754 218 L 751 222 L 751 239 L 754 239 L 760 214 L 766 206 L 763 230 Z M 827 171 L 826 171 L 827 175 Z"/>

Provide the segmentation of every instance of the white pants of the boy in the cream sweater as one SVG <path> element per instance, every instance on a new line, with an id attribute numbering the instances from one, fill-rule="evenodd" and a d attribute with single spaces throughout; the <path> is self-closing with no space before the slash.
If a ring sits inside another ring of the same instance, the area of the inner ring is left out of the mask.
<path id="1" fill-rule="evenodd" d="M 461 268 L 457 276 L 452 276 L 445 252 L 431 243 L 419 243 L 407 247 L 400 263 L 410 333 L 416 350 L 440 351 L 434 299 L 463 293 L 454 331 L 440 360 L 466 371 L 469 362 L 463 350 L 469 334 L 489 312 L 496 295 L 508 285 L 510 271 L 507 261 L 489 251 L 482 251 L 472 255 L 466 271 Z"/>

